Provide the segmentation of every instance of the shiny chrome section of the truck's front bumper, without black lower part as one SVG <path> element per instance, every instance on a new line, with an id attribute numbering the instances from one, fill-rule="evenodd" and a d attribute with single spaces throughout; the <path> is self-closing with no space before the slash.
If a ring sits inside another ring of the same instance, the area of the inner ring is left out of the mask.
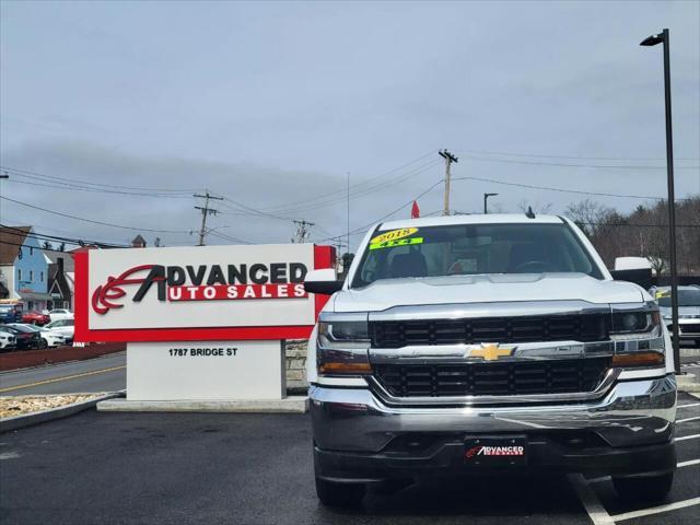
<path id="1" fill-rule="evenodd" d="M 409 432 L 595 432 L 611 447 L 667 443 L 676 417 L 673 374 L 618 381 L 602 398 L 565 405 L 390 407 L 369 388 L 312 386 L 314 441 L 319 450 L 378 453 Z"/>

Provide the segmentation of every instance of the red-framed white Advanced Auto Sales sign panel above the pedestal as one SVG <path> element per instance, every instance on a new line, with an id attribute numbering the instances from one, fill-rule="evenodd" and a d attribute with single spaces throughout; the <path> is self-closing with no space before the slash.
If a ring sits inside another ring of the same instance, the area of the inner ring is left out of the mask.
<path id="1" fill-rule="evenodd" d="M 306 293 L 304 277 L 334 257 L 312 244 L 81 250 L 75 339 L 305 338 L 327 298 Z"/>

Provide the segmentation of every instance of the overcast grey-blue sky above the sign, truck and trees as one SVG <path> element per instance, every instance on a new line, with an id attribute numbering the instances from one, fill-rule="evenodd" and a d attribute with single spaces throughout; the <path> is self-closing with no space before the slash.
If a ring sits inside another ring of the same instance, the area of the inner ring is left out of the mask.
<path id="1" fill-rule="evenodd" d="M 663 27 L 677 196 L 700 192 L 698 1 L 2 1 L 0 15 L 1 191 L 40 208 L 2 200 L 4 224 L 139 233 L 54 210 L 195 244 L 191 192 L 209 189 L 229 199 L 209 222 L 226 237 L 288 242 L 295 218 L 324 238 L 346 232 L 347 173 L 351 230 L 431 187 L 419 206 L 440 210 L 442 148 L 455 178 L 663 197 L 663 56 L 639 46 Z M 586 198 L 463 179 L 453 209 L 479 212 L 485 191 L 503 211 Z"/>

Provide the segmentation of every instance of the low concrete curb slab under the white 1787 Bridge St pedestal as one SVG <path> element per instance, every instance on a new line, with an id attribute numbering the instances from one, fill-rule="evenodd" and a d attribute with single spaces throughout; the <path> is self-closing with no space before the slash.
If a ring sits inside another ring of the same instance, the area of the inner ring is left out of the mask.
<path id="1" fill-rule="evenodd" d="M 130 401 L 107 399 L 97 404 L 100 412 L 229 412 L 229 413 L 306 413 L 308 397 L 240 400 Z"/>

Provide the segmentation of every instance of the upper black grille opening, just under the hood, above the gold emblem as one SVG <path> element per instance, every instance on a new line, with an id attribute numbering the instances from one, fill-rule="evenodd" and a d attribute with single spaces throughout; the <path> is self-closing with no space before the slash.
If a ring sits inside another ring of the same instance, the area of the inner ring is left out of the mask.
<path id="1" fill-rule="evenodd" d="M 537 342 L 608 339 L 609 315 L 542 315 L 470 319 L 380 320 L 370 323 L 373 348 L 475 342 Z"/>

